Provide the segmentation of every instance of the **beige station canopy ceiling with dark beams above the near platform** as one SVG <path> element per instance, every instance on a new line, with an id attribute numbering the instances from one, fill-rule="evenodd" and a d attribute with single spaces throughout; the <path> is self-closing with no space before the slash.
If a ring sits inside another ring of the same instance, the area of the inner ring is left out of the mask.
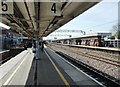
<path id="1" fill-rule="evenodd" d="M 14 14 L 2 14 L 1 18 L 3 23 L 25 36 L 46 37 L 100 0 L 88 1 L 14 0 Z"/>

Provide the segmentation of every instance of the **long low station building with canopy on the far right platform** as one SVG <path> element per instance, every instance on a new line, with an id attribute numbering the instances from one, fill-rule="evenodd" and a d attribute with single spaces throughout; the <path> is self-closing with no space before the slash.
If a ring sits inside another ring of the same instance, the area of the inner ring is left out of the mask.
<path id="1" fill-rule="evenodd" d="M 74 44 L 74 45 L 85 45 L 85 46 L 98 46 L 98 47 L 120 47 L 120 40 L 104 40 L 104 37 L 108 36 L 109 33 L 97 33 L 92 35 L 84 35 L 78 38 L 59 39 L 53 40 L 54 43 L 61 44 Z"/>

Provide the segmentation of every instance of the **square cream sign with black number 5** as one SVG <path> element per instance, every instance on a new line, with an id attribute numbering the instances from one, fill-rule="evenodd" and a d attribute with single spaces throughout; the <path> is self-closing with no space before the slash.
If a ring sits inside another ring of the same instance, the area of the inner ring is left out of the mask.
<path id="1" fill-rule="evenodd" d="M 13 0 L 0 0 L 0 14 L 13 14 Z"/>

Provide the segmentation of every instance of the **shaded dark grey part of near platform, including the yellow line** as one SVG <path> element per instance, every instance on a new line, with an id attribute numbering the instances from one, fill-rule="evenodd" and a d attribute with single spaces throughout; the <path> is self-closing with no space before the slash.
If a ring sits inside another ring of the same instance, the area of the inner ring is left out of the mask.
<path id="1" fill-rule="evenodd" d="M 100 84 L 88 77 L 62 57 L 45 48 L 40 52 L 40 58 L 33 60 L 26 85 L 52 86 L 96 86 Z"/>

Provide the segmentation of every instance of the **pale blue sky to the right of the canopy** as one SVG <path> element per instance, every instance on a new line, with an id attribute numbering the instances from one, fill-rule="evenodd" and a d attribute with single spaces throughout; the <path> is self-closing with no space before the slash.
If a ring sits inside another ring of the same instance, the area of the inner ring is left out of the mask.
<path id="1" fill-rule="evenodd" d="M 58 30 L 83 30 L 86 32 L 86 34 L 112 32 L 113 26 L 117 25 L 118 23 L 119 1 L 120 0 L 103 0 L 67 24 L 63 25 Z M 55 35 L 55 33 L 52 33 L 52 35 Z M 66 38 L 67 36 L 64 35 L 65 33 L 62 33 L 61 37 L 55 37 Z M 69 35 L 72 35 L 72 37 L 77 37 L 82 35 L 82 33 L 69 33 Z M 54 39 L 53 36 L 48 36 L 48 38 Z"/>

